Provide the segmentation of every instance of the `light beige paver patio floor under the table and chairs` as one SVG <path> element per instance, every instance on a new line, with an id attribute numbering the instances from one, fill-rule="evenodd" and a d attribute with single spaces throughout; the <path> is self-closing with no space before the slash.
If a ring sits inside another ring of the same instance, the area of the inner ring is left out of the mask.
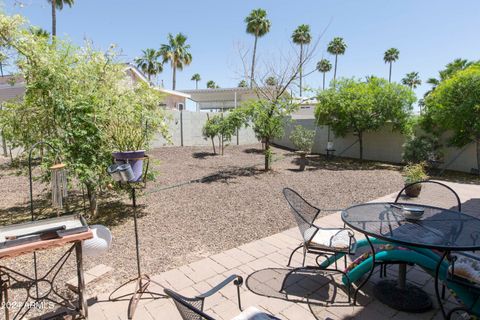
<path id="1" fill-rule="evenodd" d="M 480 186 L 448 183 L 460 196 L 465 213 L 480 215 Z M 279 194 L 279 196 L 281 196 Z M 374 201 L 391 201 L 394 194 Z M 286 204 L 285 204 L 286 205 Z M 317 220 L 319 226 L 338 227 L 343 223 L 340 213 Z M 357 239 L 363 236 L 357 234 Z M 218 284 L 225 277 L 237 274 L 244 278 L 242 286 L 242 306 L 257 306 L 281 319 L 441 319 L 442 315 L 434 298 L 433 279 L 418 267 L 408 267 L 407 279 L 422 287 L 432 297 L 434 308 L 426 313 L 408 314 L 393 310 L 376 301 L 371 295 L 372 284 L 379 279 L 378 268 L 369 284 L 362 290 L 359 306 L 347 303 L 347 295 L 342 289 L 338 274 L 299 274 L 289 285 L 286 294 L 279 288 L 288 272 L 286 263 L 291 251 L 300 243 L 298 229 L 292 228 L 275 235 L 256 240 L 208 258 L 172 269 L 152 277 L 186 296 L 203 293 Z M 293 259 L 293 266 L 300 266 L 301 254 Z M 307 259 L 307 265 L 313 260 Z M 341 265 L 343 267 L 343 265 Z M 389 266 L 388 276 L 396 277 L 397 266 Z M 328 281 L 331 280 L 331 281 Z M 337 285 L 335 285 L 337 284 Z M 154 291 L 162 291 L 151 286 Z M 133 291 L 133 285 L 125 292 Z M 230 319 L 239 313 L 235 286 L 228 285 L 219 293 L 206 299 L 205 311 L 218 319 Z M 332 304 L 331 300 L 334 299 Z M 449 297 L 446 303 L 451 308 L 454 302 Z M 127 318 L 128 301 L 110 302 L 107 295 L 98 296 L 98 300 L 89 308 L 90 319 L 113 320 Z M 137 308 L 136 319 L 181 319 L 171 299 L 141 301 Z"/>

